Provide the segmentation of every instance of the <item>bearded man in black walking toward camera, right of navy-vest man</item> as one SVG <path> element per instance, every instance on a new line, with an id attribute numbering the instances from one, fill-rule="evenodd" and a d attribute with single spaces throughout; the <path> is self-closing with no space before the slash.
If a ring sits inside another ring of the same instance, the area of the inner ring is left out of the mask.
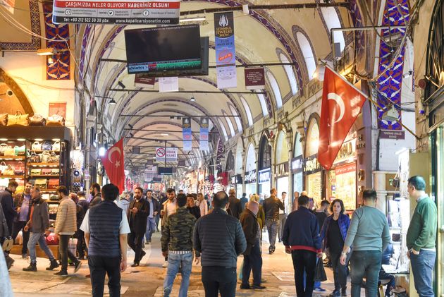
<path id="1" fill-rule="evenodd" d="M 143 189 L 135 188 L 134 200 L 128 209 L 128 221 L 130 222 L 131 233 L 128 236 L 128 246 L 135 252 L 134 263 L 131 267 L 140 265 L 140 260 L 146 254 L 142 250 L 142 241 L 147 232 L 147 219 L 149 214 L 149 203 L 142 198 Z"/>

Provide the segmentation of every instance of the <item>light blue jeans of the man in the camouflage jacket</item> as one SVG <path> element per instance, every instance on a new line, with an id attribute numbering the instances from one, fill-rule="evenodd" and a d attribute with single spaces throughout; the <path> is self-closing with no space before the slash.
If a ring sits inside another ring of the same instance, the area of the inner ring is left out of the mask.
<path id="1" fill-rule="evenodd" d="M 190 275 L 192 267 L 192 252 L 183 255 L 169 253 L 168 269 L 166 270 L 166 277 L 164 281 L 164 296 L 170 296 L 171 289 L 175 279 L 175 274 L 179 272 L 179 267 L 182 267 L 182 282 L 180 283 L 179 297 L 187 297 L 188 286 L 190 286 Z"/>

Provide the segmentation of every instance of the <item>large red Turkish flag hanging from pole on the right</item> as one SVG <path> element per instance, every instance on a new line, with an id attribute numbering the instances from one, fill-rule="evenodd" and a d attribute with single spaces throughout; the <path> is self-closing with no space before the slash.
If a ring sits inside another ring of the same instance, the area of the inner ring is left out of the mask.
<path id="1" fill-rule="evenodd" d="M 366 98 L 345 78 L 326 67 L 318 149 L 318 161 L 323 168 L 331 168 Z"/>

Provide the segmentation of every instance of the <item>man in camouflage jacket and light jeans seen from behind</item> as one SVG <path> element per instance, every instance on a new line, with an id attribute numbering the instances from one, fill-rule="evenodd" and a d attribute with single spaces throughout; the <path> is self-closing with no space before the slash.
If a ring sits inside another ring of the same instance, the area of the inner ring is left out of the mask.
<path id="1" fill-rule="evenodd" d="M 168 269 L 164 281 L 164 297 L 170 296 L 175 274 L 182 274 L 179 297 L 186 297 L 190 286 L 192 267 L 192 233 L 195 228 L 195 216 L 185 207 L 187 197 L 179 194 L 176 198 L 178 209 L 167 219 L 162 229 L 162 255 L 168 256 Z M 199 256 L 197 253 L 196 256 Z"/>

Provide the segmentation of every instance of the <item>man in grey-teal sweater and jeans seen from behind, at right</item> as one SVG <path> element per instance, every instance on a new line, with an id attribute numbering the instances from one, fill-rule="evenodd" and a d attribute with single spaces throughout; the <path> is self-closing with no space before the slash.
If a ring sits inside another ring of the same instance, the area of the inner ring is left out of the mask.
<path id="1" fill-rule="evenodd" d="M 363 277 L 366 277 L 366 296 L 373 297 L 378 295 L 382 252 L 390 243 L 390 232 L 386 216 L 376 209 L 376 191 L 364 190 L 362 198 L 364 206 L 353 212 L 340 263 L 345 265 L 347 253 L 350 253 L 350 246 L 353 246 L 350 257 L 352 297 L 361 296 Z"/>

